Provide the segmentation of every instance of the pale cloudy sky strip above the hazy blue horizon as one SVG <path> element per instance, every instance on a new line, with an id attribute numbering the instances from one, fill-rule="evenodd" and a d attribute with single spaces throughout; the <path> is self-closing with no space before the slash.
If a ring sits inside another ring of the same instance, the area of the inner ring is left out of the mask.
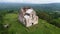
<path id="1" fill-rule="evenodd" d="M 0 0 L 0 2 L 45 4 L 60 3 L 60 0 Z"/>

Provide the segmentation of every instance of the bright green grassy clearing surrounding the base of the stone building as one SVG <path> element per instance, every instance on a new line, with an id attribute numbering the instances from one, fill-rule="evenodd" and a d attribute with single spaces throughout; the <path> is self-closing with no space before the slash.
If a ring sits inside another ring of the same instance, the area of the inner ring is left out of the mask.
<path id="1" fill-rule="evenodd" d="M 3 24 L 10 24 L 9 34 L 60 34 L 60 28 L 49 24 L 47 21 L 39 19 L 37 25 L 26 28 L 18 21 L 18 14 L 10 13 L 4 16 Z"/>

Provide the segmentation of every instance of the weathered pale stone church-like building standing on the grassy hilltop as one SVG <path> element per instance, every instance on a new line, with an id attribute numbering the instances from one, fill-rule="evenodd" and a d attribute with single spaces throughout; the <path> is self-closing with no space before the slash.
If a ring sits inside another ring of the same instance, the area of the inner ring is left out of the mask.
<path id="1" fill-rule="evenodd" d="M 38 16 L 32 8 L 24 7 L 19 11 L 19 21 L 29 27 L 38 24 Z"/>

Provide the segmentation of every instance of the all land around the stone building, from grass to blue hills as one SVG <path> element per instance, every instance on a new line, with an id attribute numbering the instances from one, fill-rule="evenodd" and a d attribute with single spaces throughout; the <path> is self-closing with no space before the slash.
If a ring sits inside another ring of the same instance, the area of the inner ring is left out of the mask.
<path id="1" fill-rule="evenodd" d="M 26 28 L 18 20 L 19 10 L 31 6 L 39 17 L 37 25 Z M 0 34 L 60 34 L 60 3 L 17 4 L 0 3 Z M 9 24 L 4 28 L 4 24 Z"/>

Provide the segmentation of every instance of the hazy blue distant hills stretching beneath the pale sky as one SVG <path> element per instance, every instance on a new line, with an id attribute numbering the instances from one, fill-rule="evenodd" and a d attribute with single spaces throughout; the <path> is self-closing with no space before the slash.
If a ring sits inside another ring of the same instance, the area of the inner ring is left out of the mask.
<path id="1" fill-rule="evenodd" d="M 37 9 L 43 10 L 59 10 L 60 3 L 50 3 L 50 4 L 24 4 L 24 3 L 0 3 L 0 9 L 19 9 L 23 6 L 31 6 Z"/>

